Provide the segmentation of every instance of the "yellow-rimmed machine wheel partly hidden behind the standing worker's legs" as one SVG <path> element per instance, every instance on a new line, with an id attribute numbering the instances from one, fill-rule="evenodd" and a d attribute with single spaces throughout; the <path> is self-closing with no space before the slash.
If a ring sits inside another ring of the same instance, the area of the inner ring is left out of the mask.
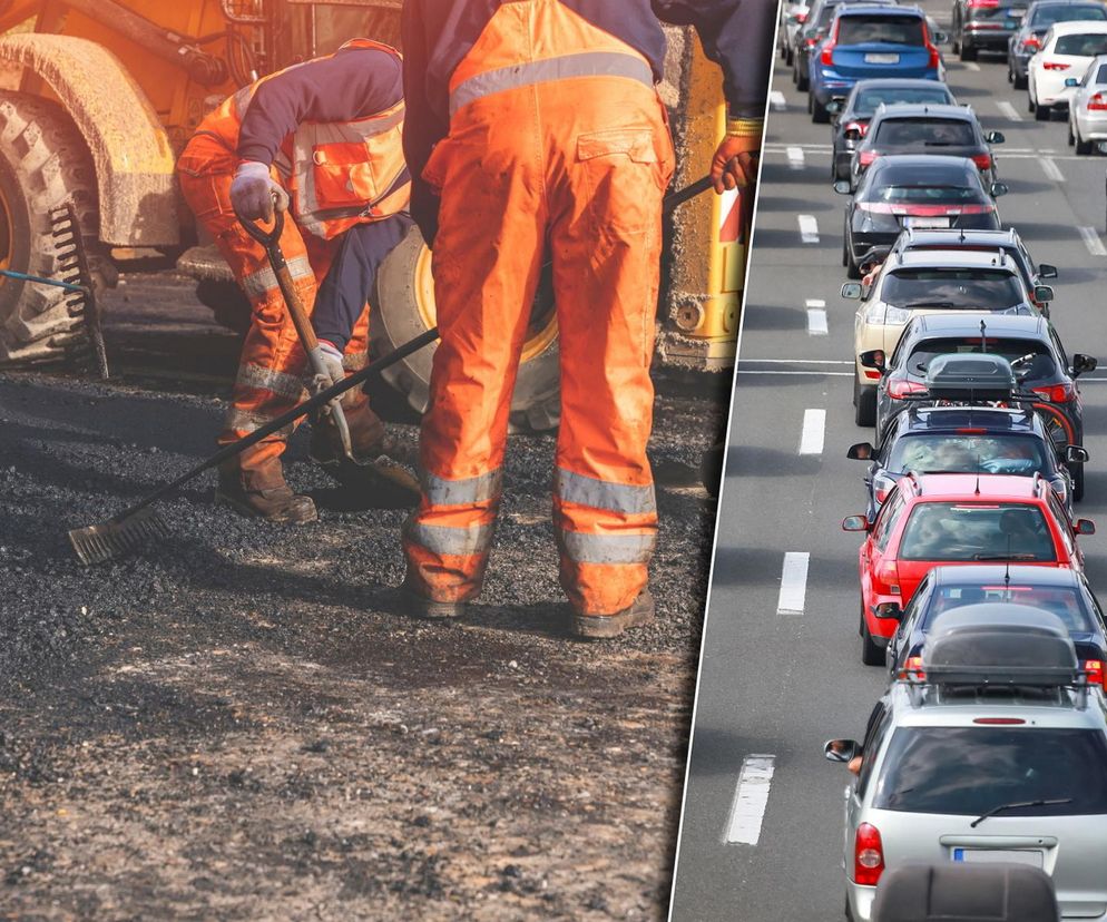
<path id="1" fill-rule="evenodd" d="M 370 350 L 384 355 L 434 325 L 431 252 L 418 227 L 393 249 L 376 274 L 376 310 L 370 314 Z M 434 345 L 392 365 L 384 379 L 422 413 L 430 391 Z M 511 423 L 532 430 L 555 429 L 560 418 L 560 359 L 557 320 L 548 276 L 539 283 L 522 361 L 511 399 Z"/>

